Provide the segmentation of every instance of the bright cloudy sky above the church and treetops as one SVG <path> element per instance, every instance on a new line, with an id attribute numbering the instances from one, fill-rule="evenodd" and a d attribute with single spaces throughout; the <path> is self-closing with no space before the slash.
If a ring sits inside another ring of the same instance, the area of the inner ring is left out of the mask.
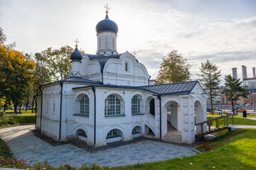
<path id="1" fill-rule="evenodd" d="M 41 52 L 47 47 L 75 46 L 95 54 L 95 26 L 109 17 L 119 26 L 119 53 L 136 50 L 137 59 L 155 78 L 161 58 L 178 50 L 193 64 L 196 79 L 201 62 L 218 65 L 223 78 L 247 66 L 256 67 L 255 0 L 0 0 L 0 27 L 16 50 Z"/>

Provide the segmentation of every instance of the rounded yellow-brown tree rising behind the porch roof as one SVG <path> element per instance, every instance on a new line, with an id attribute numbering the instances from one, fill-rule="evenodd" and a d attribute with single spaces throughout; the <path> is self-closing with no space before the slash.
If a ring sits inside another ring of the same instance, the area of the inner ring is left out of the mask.
<path id="1" fill-rule="evenodd" d="M 189 69 L 191 64 L 186 64 L 186 58 L 181 54 L 177 54 L 178 50 L 169 52 L 167 56 L 163 57 L 159 69 L 159 75 L 156 77 L 158 84 L 176 83 L 181 81 L 188 81 L 191 77 Z"/>

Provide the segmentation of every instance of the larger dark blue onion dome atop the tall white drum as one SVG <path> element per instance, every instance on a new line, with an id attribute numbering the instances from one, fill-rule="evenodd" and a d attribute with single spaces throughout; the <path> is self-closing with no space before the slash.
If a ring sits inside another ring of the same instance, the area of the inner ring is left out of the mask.
<path id="1" fill-rule="evenodd" d="M 114 21 L 110 20 L 108 16 L 106 15 L 106 18 L 99 23 L 97 23 L 96 26 L 96 32 L 100 33 L 102 31 L 112 31 L 117 34 L 118 32 L 118 26 Z"/>

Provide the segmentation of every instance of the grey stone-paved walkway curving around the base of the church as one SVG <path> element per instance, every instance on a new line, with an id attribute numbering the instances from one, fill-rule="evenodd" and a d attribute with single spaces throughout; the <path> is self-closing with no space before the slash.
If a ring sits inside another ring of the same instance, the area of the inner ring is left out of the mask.
<path id="1" fill-rule="evenodd" d="M 122 166 L 196 154 L 190 147 L 149 140 L 89 153 L 70 144 L 52 146 L 33 135 L 30 131 L 33 128 L 34 125 L 23 125 L 0 129 L 0 137 L 9 145 L 16 159 L 32 163 L 48 161 L 51 166 L 82 166 L 93 162 L 101 166 Z"/>

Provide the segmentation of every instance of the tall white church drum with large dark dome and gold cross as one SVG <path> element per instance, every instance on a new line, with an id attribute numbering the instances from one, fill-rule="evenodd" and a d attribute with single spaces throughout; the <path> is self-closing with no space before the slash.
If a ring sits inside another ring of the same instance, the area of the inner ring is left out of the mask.
<path id="1" fill-rule="evenodd" d="M 104 20 L 97 23 L 97 54 L 102 56 L 117 55 L 117 32 L 118 26 L 108 17 L 108 8 Z"/>

